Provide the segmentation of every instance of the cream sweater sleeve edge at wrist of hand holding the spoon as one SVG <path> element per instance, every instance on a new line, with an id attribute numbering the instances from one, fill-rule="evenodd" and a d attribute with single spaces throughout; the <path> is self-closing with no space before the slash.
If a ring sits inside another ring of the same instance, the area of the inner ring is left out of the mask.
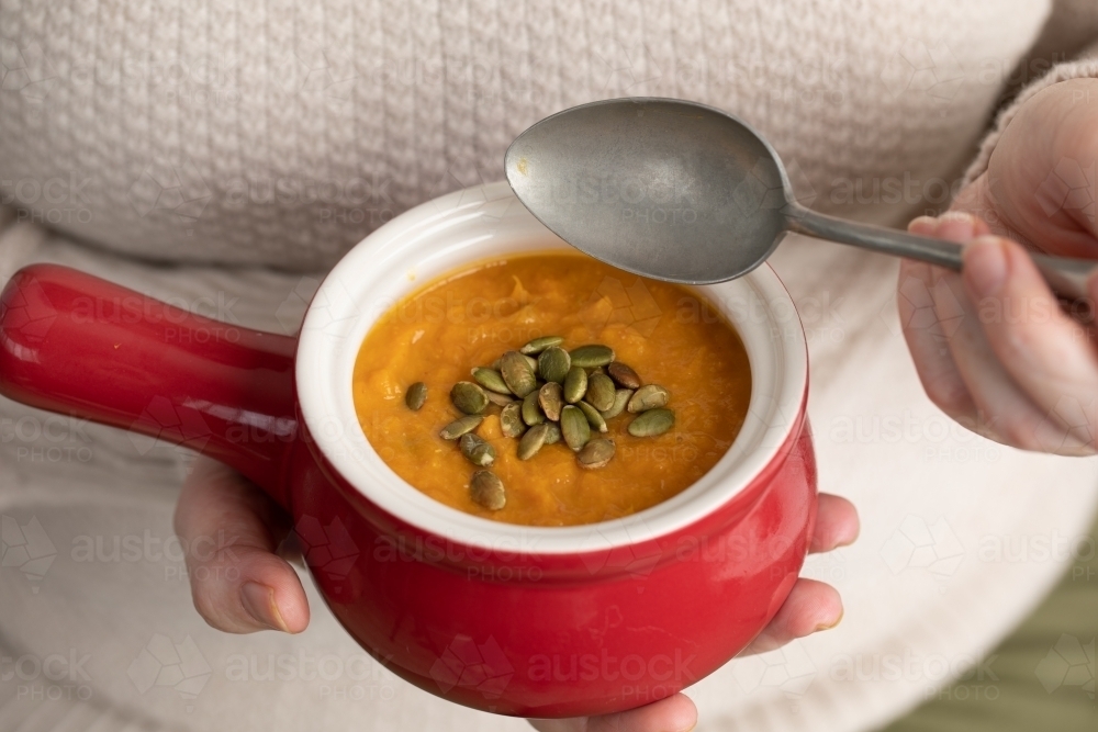
<path id="1" fill-rule="evenodd" d="M 1076 50 L 1079 48 L 1082 50 Z M 1098 2 L 1095 0 L 1058 0 L 1027 63 L 1042 58 L 1063 58 L 1065 54 L 1072 54 L 1071 58 L 1054 64 L 1046 74 L 1022 87 L 998 112 L 995 123 L 979 145 L 975 160 L 965 171 L 964 185 L 987 170 L 991 151 L 1002 131 L 1015 119 L 1022 104 L 1034 94 L 1060 81 L 1098 78 Z"/>

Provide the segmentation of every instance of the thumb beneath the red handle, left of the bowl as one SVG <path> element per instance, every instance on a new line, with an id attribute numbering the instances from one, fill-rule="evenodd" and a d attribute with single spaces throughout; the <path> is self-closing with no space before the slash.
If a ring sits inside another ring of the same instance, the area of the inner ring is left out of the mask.
<path id="1" fill-rule="evenodd" d="M 281 509 L 255 484 L 200 458 L 183 483 L 175 525 L 194 607 L 206 622 L 231 633 L 305 629 L 301 581 L 274 554 L 284 534 Z"/>

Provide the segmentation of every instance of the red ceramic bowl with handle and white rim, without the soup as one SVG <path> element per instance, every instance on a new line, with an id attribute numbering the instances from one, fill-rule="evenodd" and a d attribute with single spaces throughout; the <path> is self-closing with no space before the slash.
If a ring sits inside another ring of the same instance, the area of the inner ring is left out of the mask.
<path id="1" fill-rule="evenodd" d="M 701 481 L 580 527 L 444 506 L 367 441 L 351 395 L 358 348 L 418 282 L 560 246 L 505 183 L 459 191 L 348 252 L 296 339 L 31 266 L 0 295 L 0 392 L 187 446 L 250 477 L 292 515 L 335 616 L 416 686 L 523 717 L 628 709 L 725 664 L 797 578 L 816 516 L 807 349 L 770 268 L 697 288 L 739 329 L 753 380 L 743 429 Z"/>

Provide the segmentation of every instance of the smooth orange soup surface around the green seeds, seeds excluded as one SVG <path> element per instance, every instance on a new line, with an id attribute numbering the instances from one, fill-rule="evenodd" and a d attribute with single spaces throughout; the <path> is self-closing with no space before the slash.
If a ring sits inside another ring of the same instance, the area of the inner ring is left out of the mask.
<path id="1" fill-rule="evenodd" d="M 492 511 L 470 497 L 477 466 L 439 436 L 462 416 L 450 388 L 470 381 L 472 368 L 549 335 L 569 350 L 609 346 L 645 383 L 666 387 L 674 427 L 634 437 L 626 428 L 636 415 L 623 413 L 600 436 L 614 441 L 614 458 L 589 470 L 563 440 L 519 460 L 518 439 L 503 436 L 500 407 L 489 405 L 475 433 L 495 448 L 490 470 L 506 491 L 506 505 Z M 417 412 L 404 399 L 415 382 L 427 386 Z M 453 508 L 529 526 L 620 518 L 682 492 L 731 446 L 750 393 L 739 335 L 694 291 L 558 251 L 480 262 L 427 283 L 378 320 L 354 373 L 362 429 L 397 475 Z"/>

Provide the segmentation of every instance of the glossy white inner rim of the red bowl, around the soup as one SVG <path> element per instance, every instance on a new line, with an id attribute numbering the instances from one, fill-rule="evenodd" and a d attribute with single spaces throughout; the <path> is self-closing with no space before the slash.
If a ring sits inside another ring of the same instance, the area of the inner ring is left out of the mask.
<path id="1" fill-rule="evenodd" d="M 526 241 L 538 228 L 542 246 L 530 246 Z M 445 541 L 497 552 L 579 554 L 628 547 L 679 531 L 728 503 L 766 468 L 800 424 L 808 383 L 805 334 L 785 286 L 763 264 L 738 280 L 692 288 L 740 331 L 751 362 L 752 391 L 748 419 L 731 448 L 688 488 L 631 516 L 574 527 L 493 521 L 421 493 L 397 476 L 366 438 L 351 391 L 355 357 L 377 317 L 401 296 L 460 267 L 460 261 L 492 256 L 475 254 L 485 247 L 512 246 L 567 248 L 518 203 L 505 181 L 463 189 L 376 229 L 344 256 L 310 303 L 295 371 L 305 426 L 330 465 L 399 520 Z M 411 269 L 402 256 L 415 262 Z"/>

